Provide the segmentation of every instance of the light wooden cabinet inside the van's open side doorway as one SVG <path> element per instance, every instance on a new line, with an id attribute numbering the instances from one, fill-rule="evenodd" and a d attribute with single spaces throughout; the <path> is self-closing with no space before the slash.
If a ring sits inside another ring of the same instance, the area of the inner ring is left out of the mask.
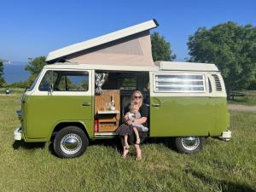
<path id="1" fill-rule="evenodd" d="M 113 97 L 115 110 L 110 110 L 109 102 Z M 98 132 L 113 132 L 119 127 L 120 93 L 119 90 L 103 90 L 95 97 L 95 115 L 98 119 Z"/>

